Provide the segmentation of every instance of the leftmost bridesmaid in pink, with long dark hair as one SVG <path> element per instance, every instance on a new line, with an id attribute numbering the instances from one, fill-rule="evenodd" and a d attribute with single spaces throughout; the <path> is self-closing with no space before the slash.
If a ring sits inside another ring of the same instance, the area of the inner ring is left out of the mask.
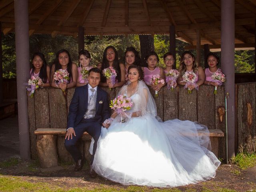
<path id="1" fill-rule="evenodd" d="M 50 87 L 49 77 L 50 77 L 50 67 L 46 64 L 44 54 L 36 52 L 32 57 L 32 68 L 30 70 L 30 78 L 40 77 L 43 81 L 41 87 Z"/>

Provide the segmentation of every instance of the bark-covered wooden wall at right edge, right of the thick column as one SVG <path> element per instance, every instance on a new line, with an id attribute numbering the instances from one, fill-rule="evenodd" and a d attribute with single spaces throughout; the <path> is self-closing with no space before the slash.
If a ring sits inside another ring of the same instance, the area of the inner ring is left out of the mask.
<path id="1" fill-rule="evenodd" d="M 238 84 L 238 152 L 256 152 L 256 83 Z"/>

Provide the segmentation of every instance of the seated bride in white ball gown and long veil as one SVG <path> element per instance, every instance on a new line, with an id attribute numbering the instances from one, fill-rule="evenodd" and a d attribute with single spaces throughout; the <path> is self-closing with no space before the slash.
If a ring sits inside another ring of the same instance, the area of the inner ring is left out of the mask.
<path id="1" fill-rule="evenodd" d="M 116 112 L 104 122 L 109 128 L 102 127 L 92 164 L 95 172 L 124 185 L 155 187 L 214 178 L 220 161 L 207 149 L 207 127 L 178 119 L 160 122 L 141 68 L 130 66 L 128 78 L 119 95 L 130 97 L 133 106 L 124 123 Z"/>

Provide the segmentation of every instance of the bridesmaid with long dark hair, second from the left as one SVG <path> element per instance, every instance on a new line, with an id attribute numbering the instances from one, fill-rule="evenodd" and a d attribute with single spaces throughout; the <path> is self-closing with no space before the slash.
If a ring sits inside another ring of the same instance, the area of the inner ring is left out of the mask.
<path id="1" fill-rule="evenodd" d="M 57 84 L 54 81 L 54 79 L 53 79 L 54 72 L 56 72 L 59 69 L 68 71 L 69 78 L 70 78 L 68 80 L 68 83 L 63 82 L 63 83 Z M 65 49 L 59 50 L 56 53 L 56 58 L 54 60 L 54 64 L 52 64 L 52 68 L 51 68 L 51 85 L 52 85 L 52 87 L 60 88 L 62 90 L 66 90 L 66 88 L 74 87 L 74 86 L 76 86 L 77 76 L 78 76 L 77 66 L 76 66 L 76 64 L 72 63 L 69 52 Z"/>

